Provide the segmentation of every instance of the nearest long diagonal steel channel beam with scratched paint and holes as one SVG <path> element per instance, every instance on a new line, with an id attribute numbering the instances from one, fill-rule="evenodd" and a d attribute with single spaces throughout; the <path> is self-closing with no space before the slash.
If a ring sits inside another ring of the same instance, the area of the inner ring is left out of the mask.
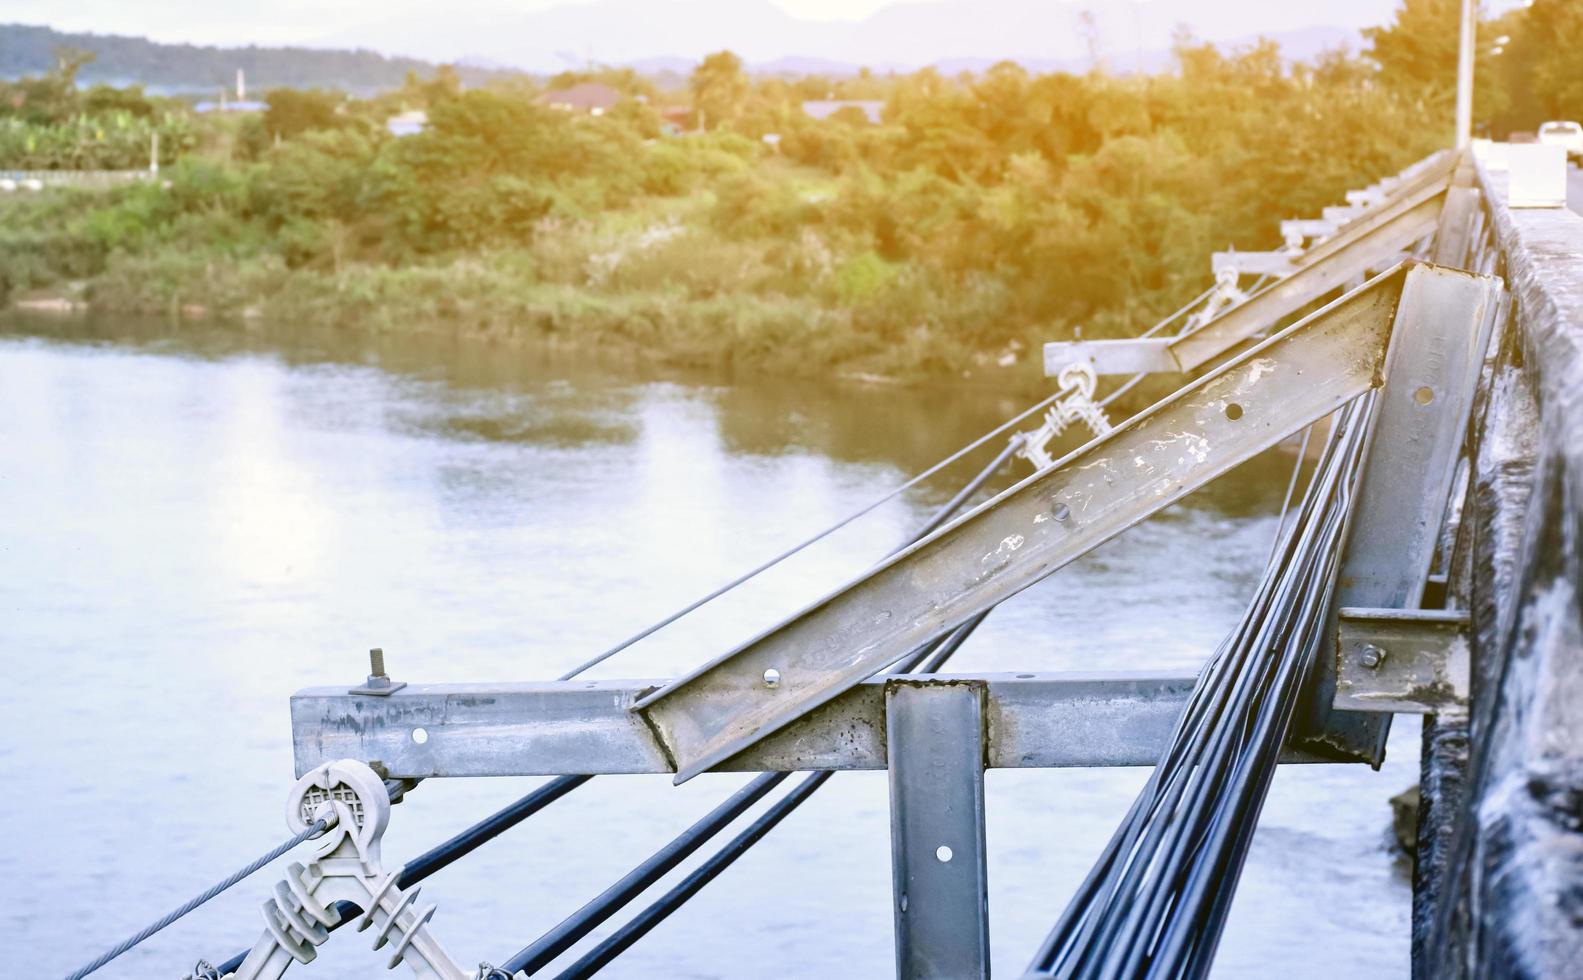
<path id="1" fill-rule="evenodd" d="M 1377 386 L 1401 266 L 844 589 L 640 700 L 678 782 L 714 768 Z"/>

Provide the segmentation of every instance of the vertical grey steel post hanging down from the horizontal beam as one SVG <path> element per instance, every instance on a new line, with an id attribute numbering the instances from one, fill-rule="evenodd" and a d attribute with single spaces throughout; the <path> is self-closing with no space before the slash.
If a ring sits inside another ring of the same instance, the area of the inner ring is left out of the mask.
<path id="1" fill-rule="evenodd" d="M 885 686 L 896 975 L 989 977 L 985 686 Z"/>

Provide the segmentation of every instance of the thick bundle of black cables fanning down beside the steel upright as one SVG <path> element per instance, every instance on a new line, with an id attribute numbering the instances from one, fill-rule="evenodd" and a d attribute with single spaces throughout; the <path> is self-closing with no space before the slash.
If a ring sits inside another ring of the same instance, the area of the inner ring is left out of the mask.
<path id="1" fill-rule="evenodd" d="M 1296 519 L 1029 977 L 1205 977 L 1320 649 L 1372 396 L 1336 413 Z"/>

